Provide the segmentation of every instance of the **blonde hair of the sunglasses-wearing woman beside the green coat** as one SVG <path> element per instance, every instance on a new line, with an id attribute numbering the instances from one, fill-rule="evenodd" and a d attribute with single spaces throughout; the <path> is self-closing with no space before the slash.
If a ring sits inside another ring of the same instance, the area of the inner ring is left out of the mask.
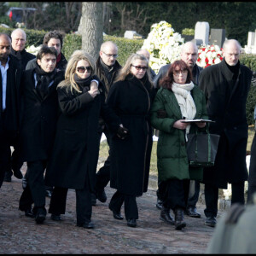
<path id="1" fill-rule="evenodd" d="M 140 54 L 132 54 L 129 56 L 129 58 L 127 59 L 126 63 L 125 63 L 125 66 L 122 67 L 116 77 L 116 79 L 114 80 L 114 83 L 115 82 L 118 82 L 118 81 L 124 81 L 126 79 L 126 77 L 129 75 L 129 74 L 132 74 L 131 73 L 131 65 L 134 63 L 134 61 L 136 60 L 141 60 L 141 61 L 145 61 L 147 63 L 147 66 L 148 66 L 148 59 L 144 56 L 144 55 L 140 55 Z M 151 84 L 151 86 L 153 86 L 153 83 L 152 83 L 152 79 L 151 79 L 151 76 L 150 76 L 150 72 L 149 72 L 149 67 L 147 69 L 147 72 L 148 74 L 148 80 Z M 132 74 L 133 75 L 133 74 Z"/>

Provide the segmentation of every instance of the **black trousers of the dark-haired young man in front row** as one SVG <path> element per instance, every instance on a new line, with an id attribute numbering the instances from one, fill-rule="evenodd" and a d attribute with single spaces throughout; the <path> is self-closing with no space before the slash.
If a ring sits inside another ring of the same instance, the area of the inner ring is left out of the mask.
<path id="1" fill-rule="evenodd" d="M 45 209 L 44 170 L 47 160 L 27 162 L 27 185 L 20 196 L 20 211 L 26 211 L 34 203 L 34 211 L 38 208 Z"/>

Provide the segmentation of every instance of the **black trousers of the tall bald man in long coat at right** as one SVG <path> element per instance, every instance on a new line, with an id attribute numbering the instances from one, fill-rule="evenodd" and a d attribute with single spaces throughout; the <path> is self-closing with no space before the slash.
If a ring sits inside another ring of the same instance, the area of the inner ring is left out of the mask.
<path id="1" fill-rule="evenodd" d="M 244 205 L 244 182 L 231 183 L 232 197 L 231 205 L 240 203 Z M 207 217 L 216 217 L 218 213 L 218 187 L 212 183 L 205 183 L 206 209 Z"/>

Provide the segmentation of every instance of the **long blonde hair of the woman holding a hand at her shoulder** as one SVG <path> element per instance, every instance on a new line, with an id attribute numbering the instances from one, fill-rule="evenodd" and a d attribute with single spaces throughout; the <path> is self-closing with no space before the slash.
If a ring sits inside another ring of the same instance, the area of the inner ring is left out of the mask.
<path id="1" fill-rule="evenodd" d="M 65 80 L 63 80 L 58 87 L 67 87 L 67 90 L 70 88 L 71 92 L 73 93 L 73 90 L 76 90 L 78 92 L 81 92 L 79 90 L 79 85 L 75 82 L 74 75 L 76 73 L 77 64 L 79 61 L 84 60 L 88 61 L 91 67 L 91 76 L 95 74 L 95 61 L 93 57 L 86 53 L 83 49 L 77 49 L 73 52 L 73 55 L 71 55 L 70 59 L 67 62 L 67 67 L 65 71 Z"/>

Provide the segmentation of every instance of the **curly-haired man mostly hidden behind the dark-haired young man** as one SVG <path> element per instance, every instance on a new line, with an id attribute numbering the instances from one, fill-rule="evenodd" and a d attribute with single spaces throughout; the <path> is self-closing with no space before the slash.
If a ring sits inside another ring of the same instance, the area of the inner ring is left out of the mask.
<path id="1" fill-rule="evenodd" d="M 44 35 L 43 45 L 48 47 L 54 47 L 57 51 L 57 61 L 56 69 L 65 71 L 67 67 L 67 60 L 65 56 L 61 53 L 61 48 L 63 46 L 63 36 L 61 32 L 50 31 Z M 26 65 L 26 70 L 32 69 L 37 66 L 37 60 L 29 61 Z M 50 186 L 45 186 L 45 194 L 48 197 L 51 197 L 53 188 Z"/>

